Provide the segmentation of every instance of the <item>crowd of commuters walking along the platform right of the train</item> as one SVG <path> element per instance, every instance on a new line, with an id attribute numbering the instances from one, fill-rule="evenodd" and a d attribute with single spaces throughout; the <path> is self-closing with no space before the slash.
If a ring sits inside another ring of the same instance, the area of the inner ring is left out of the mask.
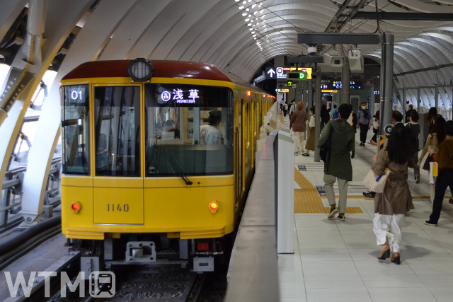
<path id="1" fill-rule="evenodd" d="M 297 108 L 297 109 L 296 109 Z M 303 151 L 303 134 L 309 127 L 305 144 L 306 152 L 302 156 L 310 156 L 314 151 L 314 108 L 309 109 L 310 116 L 304 110 L 303 103 L 292 102 L 289 109 L 289 128 L 294 131 L 298 153 Z M 328 153 L 324 162 L 324 187 L 328 203 L 331 205 L 328 218 L 333 219 L 338 213 L 338 220 L 345 221 L 348 195 L 348 182 L 352 180 L 352 163 L 355 151 L 355 132 L 360 129 L 360 146 L 367 142 L 368 129 L 372 128 L 374 135 L 369 144 L 377 144 L 379 135 L 379 110 L 372 115 L 366 103 L 362 103 L 357 114 L 351 106 L 342 104 L 338 108 L 333 105 L 331 110 L 323 105 L 321 108 L 321 137 L 318 148 L 328 144 Z M 403 123 L 401 112 L 392 112 L 393 129 L 388 136 L 388 142 L 373 158 L 371 166 L 375 175 L 388 173 L 384 192 L 366 192 L 365 197 L 374 199 L 373 231 L 377 245 L 382 246 L 378 255 L 379 260 L 386 260 L 391 255 L 391 262 L 399 265 L 401 246 L 401 226 L 404 216 L 414 209 L 411 191 L 408 186 L 408 169 L 413 169 L 415 183 L 420 183 L 420 167 L 430 170 L 430 162 L 438 165 L 437 178 L 430 183 L 432 213 L 425 220 L 428 226 L 437 226 L 442 210 L 442 202 L 447 187 L 453 192 L 453 121 L 445 121 L 442 115 L 431 108 L 423 123 L 429 127 L 429 134 L 424 138 L 420 157 L 420 116 L 413 106 L 406 112 L 406 124 Z M 352 126 L 352 127 L 351 127 Z M 423 161 L 428 154 L 425 162 Z M 432 176 L 431 178 L 432 179 Z M 339 198 L 336 202 L 333 184 L 338 182 Z M 453 204 L 453 199 L 449 200 Z"/>

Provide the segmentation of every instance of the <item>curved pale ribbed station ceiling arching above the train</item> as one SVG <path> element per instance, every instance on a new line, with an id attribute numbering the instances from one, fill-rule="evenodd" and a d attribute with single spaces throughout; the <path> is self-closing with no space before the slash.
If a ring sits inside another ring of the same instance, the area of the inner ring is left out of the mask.
<path id="1" fill-rule="evenodd" d="M 1 37 L 28 5 L 28 1 L 4 2 L 6 7 L 0 16 Z M 395 74 L 452 62 L 452 23 L 382 20 L 378 27 L 375 19 L 353 16 L 357 11 L 453 13 L 453 0 L 75 2 L 77 4 L 70 0 L 47 1 L 43 38 L 62 40 L 67 38 L 65 35 L 69 30 L 77 32 L 65 59 L 77 64 L 93 59 L 137 57 L 208 62 L 250 81 L 269 59 L 281 54 L 306 54 L 306 45 L 297 44 L 297 33 L 324 31 L 393 34 L 396 42 Z M 74 30 L 74 25 L 83 28 Z M 60 29 L 50 29 L 49 26 Z M 75 50 L 74 46 L 77 46 Z M 361 48 L 365 55 L 380 60 L 378 45 Z M 449 68 L 405 77 L 406 86 L 418 86 L 418 83 L 431 86 L 450 79 L 453 76 Z M 397 83 L 402 83 L 402 79 L 398 78 Z"/>

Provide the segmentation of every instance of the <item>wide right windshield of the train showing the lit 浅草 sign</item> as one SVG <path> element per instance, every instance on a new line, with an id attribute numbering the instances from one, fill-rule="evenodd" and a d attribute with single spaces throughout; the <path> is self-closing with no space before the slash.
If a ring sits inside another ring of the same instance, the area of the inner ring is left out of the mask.
<path id="1" fill-rule="evenodd" d="M 145 84 L 146 176 L 233 173 L 233 91 Z"/>

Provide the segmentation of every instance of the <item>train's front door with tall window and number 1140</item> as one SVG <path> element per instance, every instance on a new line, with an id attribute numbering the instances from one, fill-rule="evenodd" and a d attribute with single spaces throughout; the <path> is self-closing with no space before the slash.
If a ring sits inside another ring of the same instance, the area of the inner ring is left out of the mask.
<path id="1" fill-rule="evenodd" d="M 93 87 L 94 223 L 144 223 L 140 86 Z"/>

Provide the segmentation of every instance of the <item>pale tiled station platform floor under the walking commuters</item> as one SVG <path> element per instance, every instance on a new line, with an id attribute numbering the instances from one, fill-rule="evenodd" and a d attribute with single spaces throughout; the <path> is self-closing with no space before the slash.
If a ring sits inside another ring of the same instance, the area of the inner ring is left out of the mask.
<path id="1" fill-rule="evenodd" d="M 289 125 L 288 116 L 280 119 Z M 403 221 L 401 265 L 377 260 L 382 248 L 372 231 L 374 200 L 362 195 L 376 147 L 360 146 L 358 129 L 355 141 L 345 221 L 327 218 L 323 162 L 314 162 L 314 152 L 294 158 L 294 254 L 278 255 L 280 301 L 452 301 L 453 205 L 445 197 L 439 225 L 426 226 L 432 209 L 428 173 L 422 170 L 415 184 L 409 169 L 415 209 Z"/>

